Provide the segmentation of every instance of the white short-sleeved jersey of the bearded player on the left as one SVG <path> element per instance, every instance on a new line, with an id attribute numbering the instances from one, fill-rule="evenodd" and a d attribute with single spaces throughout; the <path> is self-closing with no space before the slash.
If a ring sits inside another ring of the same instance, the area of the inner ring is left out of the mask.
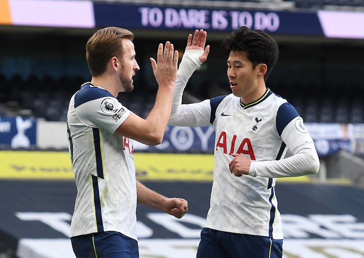
<path id="1" fill-rule="evenodd" d="M 67 131 L 77 186 L 71 237 L 117 231 L 136 240 L 133 142 L 114 134 L 130 114 L 90 82 L 70 100 Z"/>

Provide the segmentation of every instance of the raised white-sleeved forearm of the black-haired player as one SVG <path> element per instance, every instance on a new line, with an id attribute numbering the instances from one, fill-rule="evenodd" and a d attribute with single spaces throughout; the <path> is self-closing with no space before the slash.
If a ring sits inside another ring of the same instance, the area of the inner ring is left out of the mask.
<path id="1" fill-rule="evenodd" d="M 180 67 L 177 71 L 177 79 L 173 91 L 172 109 L 169 118 L 170 122 L 173 121 L 179 113 L 182 104 L 183 90 L 193 72 L 201 64 L 199 56 L 202 54 L 203 50 L 186 50 L 183 54 Z"/>

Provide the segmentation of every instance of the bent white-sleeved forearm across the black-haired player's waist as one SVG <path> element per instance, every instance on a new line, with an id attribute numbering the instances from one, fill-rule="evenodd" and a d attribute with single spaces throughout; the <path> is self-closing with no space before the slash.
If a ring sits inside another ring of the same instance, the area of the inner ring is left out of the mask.
<path id="1" fill-rule="evenodd" d="M 306 143 L 291 157 L 272 161 L 253 161 L 249 175 L 267 178 L 298 177 L 316 174 L 320 162 L 313 143 Z"/>

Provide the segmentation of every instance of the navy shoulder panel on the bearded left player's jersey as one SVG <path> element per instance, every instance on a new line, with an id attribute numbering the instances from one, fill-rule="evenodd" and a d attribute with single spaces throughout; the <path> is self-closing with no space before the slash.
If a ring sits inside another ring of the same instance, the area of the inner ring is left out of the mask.
<path id="1" fill-rule="evenodd" d="M 81 86 L 81 90 L 77 91 L 75 94 L 75 108 L 88 101 L 103 97 L 114 98 L 114 96 L 109 91 L 106 91 L 92 84 L 91 82 L 86 82 Z"/>

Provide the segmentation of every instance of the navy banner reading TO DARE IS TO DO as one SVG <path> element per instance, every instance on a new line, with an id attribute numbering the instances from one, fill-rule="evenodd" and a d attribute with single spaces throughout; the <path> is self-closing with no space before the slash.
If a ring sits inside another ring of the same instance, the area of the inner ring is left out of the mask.
<path id="1" fill-rule="evenodd" d="M 316 13 L 171 8 L 94 3 L 96 27 L 232 31 L 240 26 L 269 33 L 324 35 Z"/>

